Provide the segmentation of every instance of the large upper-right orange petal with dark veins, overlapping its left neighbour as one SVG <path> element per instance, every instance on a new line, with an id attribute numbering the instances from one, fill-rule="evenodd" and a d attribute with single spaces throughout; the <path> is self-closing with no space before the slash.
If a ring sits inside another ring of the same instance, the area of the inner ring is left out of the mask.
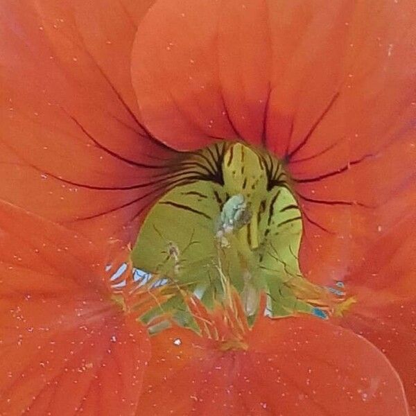
<path id="1" fill-rule="evenodd" d="M 400 198 L 390 220 L 414 202 L 415 15 L 406 0 L 159 0 L 132 54 L 144 123 L 175 148 L 243 139 L 283 159 L 303 271 L 343 279 L 378 238 L 376 207 Z"/>

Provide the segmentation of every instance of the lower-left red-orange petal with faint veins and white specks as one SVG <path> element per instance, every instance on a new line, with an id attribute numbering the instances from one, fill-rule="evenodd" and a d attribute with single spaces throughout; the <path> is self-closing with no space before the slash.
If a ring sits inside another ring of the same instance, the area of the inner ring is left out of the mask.
<path id="1" fill-rule="evenodd" d="M 4 202 L 0 229 L 0 413 L 134 415 L 147 332 L 110 300 L 98 250 Z"/>

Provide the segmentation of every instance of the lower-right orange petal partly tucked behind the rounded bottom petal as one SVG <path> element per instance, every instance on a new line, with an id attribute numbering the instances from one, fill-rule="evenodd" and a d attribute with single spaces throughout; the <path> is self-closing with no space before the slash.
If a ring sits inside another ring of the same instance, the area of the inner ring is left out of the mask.
<path id="1" fill-rule="evenodd" d="M 365 265 L 347 279 L 356 303 L 340 324 L 370 340 L 404 383 L 416 414 L 416 250 L 413 213 L 383 236 L 365 255 Z"/>

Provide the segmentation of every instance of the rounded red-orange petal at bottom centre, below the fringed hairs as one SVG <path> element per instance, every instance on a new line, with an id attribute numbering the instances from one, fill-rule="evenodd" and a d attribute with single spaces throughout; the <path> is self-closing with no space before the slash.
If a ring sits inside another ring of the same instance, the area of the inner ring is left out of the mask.
<path id="1" fill-rule="evenodd" d="M 383 354 L 314 318 L 261 319 L 246 350 L 220 351 L 183 328 L 155 336 L 152 347 L 146 415 L 408 415 Z"/>

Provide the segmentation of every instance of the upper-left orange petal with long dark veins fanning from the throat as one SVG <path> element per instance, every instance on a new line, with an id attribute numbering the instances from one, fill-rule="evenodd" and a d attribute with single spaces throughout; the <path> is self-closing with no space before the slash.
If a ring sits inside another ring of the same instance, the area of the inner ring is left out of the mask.
<path id="1" fill-rule="evenodd" d="M 130 80 L 150 3 L 1 4 L 1 198 L 89 237 L 135 238 L 125 227 L 174 156 L 141 126 Z"/>

